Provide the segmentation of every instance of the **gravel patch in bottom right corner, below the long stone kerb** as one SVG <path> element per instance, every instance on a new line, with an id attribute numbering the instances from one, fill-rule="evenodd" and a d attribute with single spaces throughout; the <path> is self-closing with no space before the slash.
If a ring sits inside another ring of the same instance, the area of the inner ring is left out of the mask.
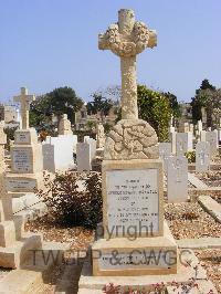
<path id="1" fill-rule="evenodd" d="M 194 251 L 200 264 L 207 270 L 208 279 L 221 293 L 221 250 Z"/>

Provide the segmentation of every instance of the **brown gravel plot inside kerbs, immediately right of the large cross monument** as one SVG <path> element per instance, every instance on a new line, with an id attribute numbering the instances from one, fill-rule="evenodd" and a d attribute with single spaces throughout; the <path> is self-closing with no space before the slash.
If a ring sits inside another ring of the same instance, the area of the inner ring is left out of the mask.
<path id="1" fill-rule="evenodd" d="M 198 203 L 167 203 L 165 204 L 165 218 L 175 239 L 221 238 L 221 224 Z"/>

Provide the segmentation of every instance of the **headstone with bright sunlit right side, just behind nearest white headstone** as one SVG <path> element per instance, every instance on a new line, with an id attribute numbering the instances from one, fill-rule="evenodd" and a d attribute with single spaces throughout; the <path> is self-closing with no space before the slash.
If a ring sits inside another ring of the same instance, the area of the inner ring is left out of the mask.
<path id="1" fill-rule="evenodd" d="M 177 155 L 185 155 L 192 150 L 192 133 L 177 133 Z"/>

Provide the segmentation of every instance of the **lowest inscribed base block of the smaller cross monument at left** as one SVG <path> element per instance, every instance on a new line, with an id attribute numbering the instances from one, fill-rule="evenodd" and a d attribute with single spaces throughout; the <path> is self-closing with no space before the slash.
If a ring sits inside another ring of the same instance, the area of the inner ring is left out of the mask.
<path id="1" fill-rule="evenodd" d="M 7 190 L 14 197 L 21 197 L 27 192 L 34 192 L 43 188 L 43 172 L 38 174 L 8 174 Z"/>

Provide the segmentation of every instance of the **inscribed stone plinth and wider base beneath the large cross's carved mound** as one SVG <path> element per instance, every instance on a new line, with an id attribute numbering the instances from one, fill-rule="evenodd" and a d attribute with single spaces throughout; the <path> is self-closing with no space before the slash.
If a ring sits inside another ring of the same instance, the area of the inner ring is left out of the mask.
<path id="1" fill-rule="evenodd" d="M 93 274 L 176 273 L 177 245 L 164 224 L 162 161 L 104 160 L 102 175 L 104 239 L 92 246 Z M 115 254 L 122 264 L 113 265 Z M 147 255 L 159 263 L 145 263 Z"/>

